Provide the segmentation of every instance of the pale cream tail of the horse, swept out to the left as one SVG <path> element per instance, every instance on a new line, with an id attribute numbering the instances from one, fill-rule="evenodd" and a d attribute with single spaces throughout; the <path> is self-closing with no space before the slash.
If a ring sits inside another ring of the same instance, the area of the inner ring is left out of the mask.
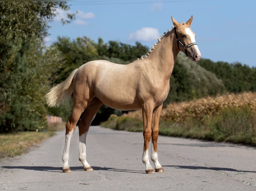
<path id="1" fill-rule="evenodd" d="M 70 76 L 62 83 L 53 87 L 46 95 L 46 103 L 49 107 L 58 107 L 61 102 L 68 100 L 73 93 L 73 79 L 78 69 L 74 70 Z"/>

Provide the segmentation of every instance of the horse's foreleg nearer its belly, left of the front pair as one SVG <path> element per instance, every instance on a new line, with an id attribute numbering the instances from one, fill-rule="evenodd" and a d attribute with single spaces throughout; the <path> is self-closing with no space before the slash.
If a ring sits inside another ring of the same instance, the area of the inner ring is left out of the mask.
<path id="1" fill-rule="evenodd" d="M 143 137 L 144 137 L 144 146 L 143 146 L 143 155 L 142 162 L 146 166 L 146 173 L 154 174 L 154 169 L 149 163 L 148 156 L 148 146 L 151 138 L 151 121 L 152 121 L 152 105 L 148 104 L 148 107 L 142 108 L 142 116 L 143 116 Z"/>

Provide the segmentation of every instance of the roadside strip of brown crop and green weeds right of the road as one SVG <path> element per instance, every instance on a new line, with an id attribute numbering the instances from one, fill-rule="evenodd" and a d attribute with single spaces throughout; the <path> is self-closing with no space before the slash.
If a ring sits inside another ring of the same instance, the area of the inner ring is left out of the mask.
<path id="1" fill-rule="evenodd" d="M 141 110 L 115 117 L 111 125 L 109 119 L 101 126 L 107 124 L 109 128 L 122 126 L 126 127 L 121 128 L 123 130 L 135 131 L 136 127 L 143 130 Z M 159 134 L 256 146 L 256 93 L 170 103 L 161 112 Z"/>

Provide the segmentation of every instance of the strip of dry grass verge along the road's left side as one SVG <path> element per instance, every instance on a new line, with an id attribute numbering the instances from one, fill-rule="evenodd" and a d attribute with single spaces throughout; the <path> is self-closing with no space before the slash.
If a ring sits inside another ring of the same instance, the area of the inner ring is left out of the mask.
<path id="1" fill-rule="evenodd" d="M 65 129 L 65 123 L 48 124 L 47 129 L 45 132 L 25 131 L 0 134 L 0 158 L 27 153 L 32 146 L 53 136 L 55 131 Z"/>

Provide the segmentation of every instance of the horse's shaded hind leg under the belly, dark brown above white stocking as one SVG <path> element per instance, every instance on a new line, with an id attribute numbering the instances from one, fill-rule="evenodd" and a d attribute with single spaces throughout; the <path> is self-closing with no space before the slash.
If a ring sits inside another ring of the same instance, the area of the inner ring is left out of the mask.
<path id="1" fill-rule="evenodd" d="M 97 111 L 103 103 L 97 98 L 93 98 L 90 105 L 86 108 L 85 113 L 78 124 L 79 127 L 79 160 L 84 166 L 84 170 L 93 171 L 91 165 L 86 159 L 86 136 Z"/>

